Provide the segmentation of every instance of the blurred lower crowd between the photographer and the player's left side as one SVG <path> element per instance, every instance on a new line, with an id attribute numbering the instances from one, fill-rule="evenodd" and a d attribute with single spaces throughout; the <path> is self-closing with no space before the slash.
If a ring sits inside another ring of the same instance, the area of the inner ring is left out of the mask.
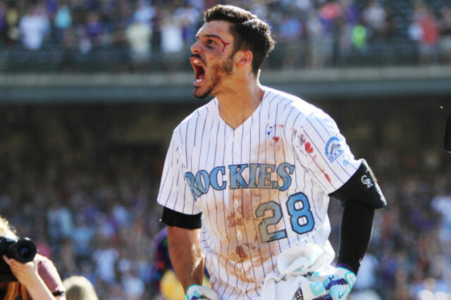
<path id="1" fill-rule="evenodd" d="M 57 165 L 35 170 L 45 179 L 4 187 L 1 215 L 20 237 L 35 241 L 62 279 L 86 277 L 99 299 L 151 299 L 152 239 L 161 229 L 154 201 L 159 180 L 127 163 L 105 164 L 109 171 L 97 174 Z"/>

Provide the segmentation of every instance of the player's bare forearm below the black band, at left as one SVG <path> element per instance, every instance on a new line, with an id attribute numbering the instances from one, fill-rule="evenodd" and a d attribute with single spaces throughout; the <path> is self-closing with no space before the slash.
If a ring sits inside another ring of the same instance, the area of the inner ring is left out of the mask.
<path id="1" fill-rule="evenodd" d="M 202 285 L 204 277 L 204 256 L 199 234 L 199 229 L 168 226 L 169 256 L 185 292 L 190 285 Z"/>

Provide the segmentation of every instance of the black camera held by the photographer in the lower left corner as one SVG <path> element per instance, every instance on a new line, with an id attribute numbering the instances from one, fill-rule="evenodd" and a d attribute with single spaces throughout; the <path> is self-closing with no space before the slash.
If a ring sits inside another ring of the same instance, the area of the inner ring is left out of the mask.
<path id="1" fill-rule="evenodd" d="M 16 276 L 11 272 L 11 268 L 4 261 L 3 256 L 14 258 L 20 263 L 27 263 L 35 259 L 36 245 L 27 238 L 11 239 L 11 237 L 0 237 L 0 282 L 17 281 Z"/>

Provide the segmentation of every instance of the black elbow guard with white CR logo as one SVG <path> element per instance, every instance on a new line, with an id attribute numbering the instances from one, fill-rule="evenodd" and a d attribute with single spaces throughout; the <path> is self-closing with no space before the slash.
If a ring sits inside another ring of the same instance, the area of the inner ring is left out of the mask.
<path id="1" fill-rule="evenodd" d="M 374 209 L 387 206 L 387 201 L 385 201 L 376 177 L 374 177 L 373 171 L 365 160 L 362 161 L 350 180 L 347 180 L 340 189 L 329 194 L 329 196 L 338 199 L 342 206 L 349 200 L 362 201 Z"/>

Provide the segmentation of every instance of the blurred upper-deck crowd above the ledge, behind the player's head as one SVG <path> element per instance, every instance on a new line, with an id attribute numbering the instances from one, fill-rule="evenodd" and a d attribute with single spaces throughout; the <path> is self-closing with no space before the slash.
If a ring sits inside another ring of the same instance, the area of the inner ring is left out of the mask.
<path id="1" fill-rule="evenodd" d="M 278 42 L 271 68 L 451 63 L 447 0 L 5 0 L 0 68 L 20 72 L 30 61 L 57 71 L 84 63 L 114 72 L 187 68 L 202 11 L 219 3 L 271 25 Z"/>

